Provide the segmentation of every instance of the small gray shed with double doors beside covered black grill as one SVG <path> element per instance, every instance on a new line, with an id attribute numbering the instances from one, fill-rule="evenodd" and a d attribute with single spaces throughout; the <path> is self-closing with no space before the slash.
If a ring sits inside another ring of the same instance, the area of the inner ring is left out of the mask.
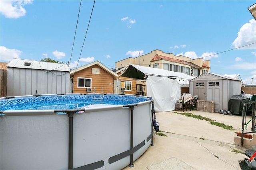
<path id="1" fill-rule="evenodd" d="M 241 94 L 241 80 L 206 72 L 189 82 L 189 92 L 198 100 L 214 101 L 214 111 L 228 110 L 233 95 Z"/>

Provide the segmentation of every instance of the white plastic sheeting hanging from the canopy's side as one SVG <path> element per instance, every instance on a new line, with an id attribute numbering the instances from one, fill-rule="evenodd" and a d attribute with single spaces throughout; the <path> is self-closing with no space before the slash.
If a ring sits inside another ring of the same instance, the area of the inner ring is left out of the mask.
<path id="1" fill-rule="evenodd" d="M 154 100 L 155 111 L 175 110 L 175 103 L 180 99 L 180 84 L 176 79 L 148 76 L 146 84 L 148 96 Z"/>

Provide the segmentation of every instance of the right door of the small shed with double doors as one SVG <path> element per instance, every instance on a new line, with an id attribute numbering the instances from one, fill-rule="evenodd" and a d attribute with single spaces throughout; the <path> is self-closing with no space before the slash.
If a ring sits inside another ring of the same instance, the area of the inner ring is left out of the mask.
<path id="1" fill-rule="evenodd" d="M 208 86 L 208 101 L 214 101 L 214 111 L 219 111 L 222 109 L 222 83 L 220 80 L 207 82 Z"/>

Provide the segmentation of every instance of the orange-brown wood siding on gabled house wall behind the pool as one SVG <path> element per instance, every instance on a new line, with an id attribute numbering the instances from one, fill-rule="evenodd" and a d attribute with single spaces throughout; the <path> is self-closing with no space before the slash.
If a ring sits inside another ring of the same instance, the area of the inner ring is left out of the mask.
<path id="1" fill-rule="evenodd" d="M 99 68 L 100 74 L 92 74 L 92 68 Z M 78 77 L 92 78 L 92 92 L 86 92 L 87 88 L 77 87 Z M 79 72 L 75 72 L 73 78 L 74 93 L 94 93 L 94 87 L 95 93 L 101 93 L 102 87 L 103 93 L 114 93 L 114 76 L 112 76 L 109 72 L 102 69 L 98 65 L 93 65 L 83 70 L 80 70 Z"/>

